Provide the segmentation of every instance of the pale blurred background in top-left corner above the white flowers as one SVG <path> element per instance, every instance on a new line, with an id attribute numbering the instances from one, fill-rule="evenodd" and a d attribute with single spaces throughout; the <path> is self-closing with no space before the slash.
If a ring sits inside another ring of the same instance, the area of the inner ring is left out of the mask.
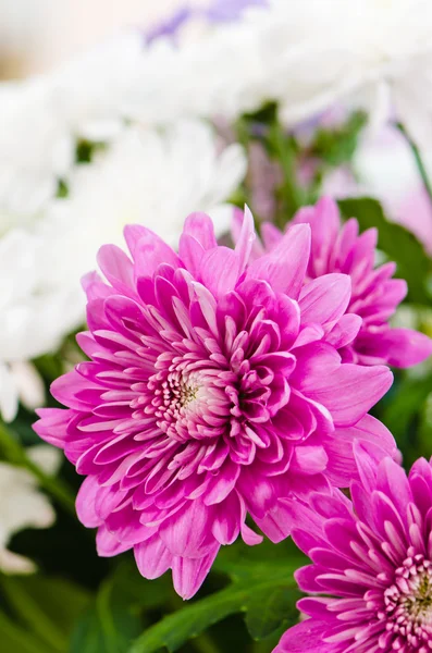
<path id="1" fill-rule="evenodd" d="M 49 71 L 119 28 L 149 28 L 184 5 L 184 0 L 0 0 L 0 78 Z"/>

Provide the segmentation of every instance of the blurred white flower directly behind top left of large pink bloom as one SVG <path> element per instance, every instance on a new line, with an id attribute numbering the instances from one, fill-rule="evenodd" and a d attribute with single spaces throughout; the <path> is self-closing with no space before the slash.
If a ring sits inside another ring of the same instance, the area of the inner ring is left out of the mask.
<path id="1" fill-rule="evenodd" d="M 78 288 L 82 274 L 95 267 L 100 245 L 122 244 L 128 223 L 145 224 L 175 247 L 186 215 L 207 211 L 221 235 L 230 229 L 224 202 L 245 174 L 242 147 L 223 149 L 203 122 L 125 128 L 90 165 L 75 169 L 70 196 L 55 200 L 40 223 L 39 234 L 50 249 L 47 285 Z M 82 307 L 79 296 L 78 321 Z"/>

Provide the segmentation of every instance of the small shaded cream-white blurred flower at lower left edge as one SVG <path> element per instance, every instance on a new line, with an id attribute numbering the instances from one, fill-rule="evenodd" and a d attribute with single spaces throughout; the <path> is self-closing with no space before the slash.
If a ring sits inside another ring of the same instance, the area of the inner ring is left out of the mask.
<path id="1" fill-rule="evenodd" d="M 61 456 L 53 447 L 37 445 L 27 454 L 46 473 L 54 475 Z M 7 574 L 35 571 L 34 563 L 9 551 L 8 544 L 16 532 L 25 528 L 48 528 L 55 513 L 48 498 L 37 489 L 37 481 L 25 469 L 0 463 L 0 570 Z"/>

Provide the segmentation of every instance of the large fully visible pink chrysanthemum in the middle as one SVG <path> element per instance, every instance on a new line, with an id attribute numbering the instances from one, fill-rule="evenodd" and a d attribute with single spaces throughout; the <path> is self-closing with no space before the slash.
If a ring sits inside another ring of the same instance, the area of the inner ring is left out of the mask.
<path id="1" fill-rule="evenodd" d="M 77 512 L 99 554 L 133 547 L 144 576 L 171 567 L 189 597 L 221 544 L 260 542 L 247 513 L 282 539 L 279 498 L 346 486 L 354 439 L 395 451 L 366 415 L 392 374 L 342 364 L 361 320 L 346 315 L 349 276 L 305 286 L 309 225 L 250 264 L 248 210 L 235 250 L 203 214 L 186 220 L 178 255 L 144 226 L 125 238 L 131 258 L 99 251 L 108 283 L 84 282 L 90 362 L 52 385 L 69 410 L 40 410 L 36 430 L 87 476 Z"/>

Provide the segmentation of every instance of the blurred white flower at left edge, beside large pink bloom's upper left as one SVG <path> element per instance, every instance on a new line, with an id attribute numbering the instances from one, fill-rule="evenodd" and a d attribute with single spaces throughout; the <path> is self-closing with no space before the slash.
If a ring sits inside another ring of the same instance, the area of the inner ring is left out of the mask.
<path id="1" fill-rule="evenodd" d="M 0 237 L 0 416 L 5 421 L 16 416 L 20 399 L 29 409 L 44 403 L 44 384 L 27 361 L 54 350 L 75 319 L 71 291 L 41 292 L 44 249 L 41 236 L 24 227 Z"/>

